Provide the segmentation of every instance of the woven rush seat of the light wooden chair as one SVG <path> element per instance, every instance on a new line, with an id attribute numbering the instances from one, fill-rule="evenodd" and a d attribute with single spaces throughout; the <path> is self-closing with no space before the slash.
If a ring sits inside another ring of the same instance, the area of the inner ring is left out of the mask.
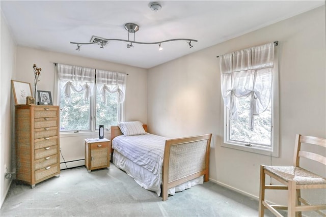
<path id="1" fill-rule="evenodd" d="M 266 171 L 278 176 L 284 181 L 292 179 L 297 185 L 326 184 L 326 178 L 316 175 L 301 167 L 293 166 L 264 166 Z"/>

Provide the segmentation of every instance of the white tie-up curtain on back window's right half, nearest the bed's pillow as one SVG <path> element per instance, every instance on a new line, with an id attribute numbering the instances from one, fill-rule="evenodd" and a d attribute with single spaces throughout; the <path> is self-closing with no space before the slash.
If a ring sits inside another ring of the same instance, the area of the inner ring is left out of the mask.
<path id="1" fill-rule="evenodd" d="M 106 93 L 117 92 L 117 103 L 123 103 L 126 93 L 127 74 L 96 70 L 96 85 L 106 104 Z"/>

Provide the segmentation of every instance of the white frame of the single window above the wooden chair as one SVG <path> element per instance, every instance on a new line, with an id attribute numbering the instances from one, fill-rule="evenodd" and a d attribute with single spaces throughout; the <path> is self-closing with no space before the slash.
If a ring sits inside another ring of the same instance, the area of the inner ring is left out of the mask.
<path id="1" fill-rule="evenodd" d="M 278 55 L 277 49 L 275 52 L 274 71 L 273 71 L 273 92 L 271 94 L 271 143 L 270 147 L 248 142 L 236 142 L 229 139 L 229 111 L 224 105 L 221 97 L 221 107 L 223 109 L 223 143 L 222 147 L 233 148 L 241 151 L 263 154 L 271 157 L 279 157 L 279 70 L 278 70 Z"/>

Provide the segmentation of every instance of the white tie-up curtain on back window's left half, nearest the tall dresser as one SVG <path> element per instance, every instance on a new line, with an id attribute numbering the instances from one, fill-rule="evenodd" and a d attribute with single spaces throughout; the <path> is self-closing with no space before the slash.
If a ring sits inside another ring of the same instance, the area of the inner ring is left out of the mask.
<path id="1" fill-rule="evenodd" d="M 75 92 L 84 91 L 84 102 L 93 95 L 92 90 L 95 83 L 95 69 L 57 64 L 58 78 L 65 93 L 65 97 L 70 101 L 71 90 Z"/>

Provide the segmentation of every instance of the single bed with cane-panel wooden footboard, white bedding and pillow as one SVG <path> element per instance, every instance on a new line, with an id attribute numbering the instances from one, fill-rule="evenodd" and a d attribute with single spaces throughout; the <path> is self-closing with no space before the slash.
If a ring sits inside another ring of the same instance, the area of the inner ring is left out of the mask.
<path id="1" fill-rule="evenodd" d="M 132 135 L 124 127 L 130 123 L 138 125 L 138 130 L 132 128 Z M 165 201 L 169 194 L 208 181 L 211 136 L 169 139 L 149 134 L 147 125 L 140 121 L 122 122 L 111 127 L 112 160 L 144 189 L 161 194 Z"/>

